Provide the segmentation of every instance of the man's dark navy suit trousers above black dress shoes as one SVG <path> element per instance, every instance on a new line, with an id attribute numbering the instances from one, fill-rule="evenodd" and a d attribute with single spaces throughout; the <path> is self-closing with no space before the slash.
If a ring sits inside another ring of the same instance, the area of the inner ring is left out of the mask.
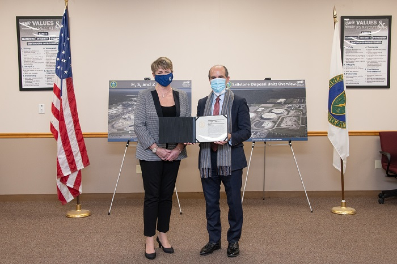
<path id="1" fill-rule="evenodd" d="M 225 186 L 227 205 L 229 206 L 229 230 L 227 241 L 238 242 L 243 228 L 243 206 L 241 205 L 241 186 L 243 170 L 233 170 L 231 175 L 220 176 L 216 174 L 216 153 L 211 151 L 212 173 L 210 178 L 201 178 L 202 189 L 206 202 L 207 231 L 210 243 L 221 239 L 221 210 L 219 207 L 221 182 Z"/>

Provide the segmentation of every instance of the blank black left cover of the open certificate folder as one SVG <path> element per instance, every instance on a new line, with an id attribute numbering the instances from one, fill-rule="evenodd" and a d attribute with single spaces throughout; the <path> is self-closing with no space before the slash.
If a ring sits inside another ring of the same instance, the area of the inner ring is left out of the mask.
<path id="1" fill-rule="evenodd" d="M 159 117 L 159 143 L 194 143 L 195 117 Z"/>

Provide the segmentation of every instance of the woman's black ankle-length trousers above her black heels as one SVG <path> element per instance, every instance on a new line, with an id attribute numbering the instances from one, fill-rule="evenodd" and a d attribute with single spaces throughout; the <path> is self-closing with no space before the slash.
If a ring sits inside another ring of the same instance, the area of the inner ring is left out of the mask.
<path id="1" fill-rule="evenodd" d="M 181 161 L 142 161 L 145 202 L 143 205 L 144 235 L 152 237 L 157 230 L 170 229 L 172 195 Z"/>

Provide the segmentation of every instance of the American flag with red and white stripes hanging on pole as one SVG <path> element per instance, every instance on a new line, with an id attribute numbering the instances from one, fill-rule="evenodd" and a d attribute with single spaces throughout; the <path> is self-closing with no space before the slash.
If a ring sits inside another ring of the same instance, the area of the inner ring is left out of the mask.
<path id="1" fill-rule="evenodd" d="M 68 20 L 65 8 L 59 33 L 50 123 L 58 146 L 56 184 L 58 199 L 63 205 L 81 194 L 81 169 L 90 164 L 73 89 Z"/>

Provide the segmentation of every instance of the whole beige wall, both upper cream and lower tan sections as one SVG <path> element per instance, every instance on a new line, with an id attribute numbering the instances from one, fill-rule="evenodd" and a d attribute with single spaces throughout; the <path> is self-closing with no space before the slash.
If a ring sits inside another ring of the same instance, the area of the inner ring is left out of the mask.
<path id="1" fill-rule="evenodd" d="M 175 79 L 192 80 L 192 109 L 210 92 L 206 75 L 217 63 L 231 80 L 305 79 L 308 130 L 326 131 L 332 11 L 341 15 L 397 14 L 397 2 L 304 0 L 69 0 L 73 79 L 81 127 L 107 132 L 108 81 L 150 77 L 150 63 L 166 55 Z M 0 136 L 48 133 L 52 92 L 19 92 L 15 16 L 62 15 L 63 0 L 0 1 Z M 369 8 L 369 6 L 374 6 Z M 392 25 L 391 88 L 347 90 L 351 131 L 397 130 L 393 117 L 397 89 L 396 29 Z M 39 103 L 46 113 L 38 114 Z M 91 165 L 83 170 L 83 192 L 111 193 L 125 143 L 86 138 Z M 377 136 L 351 136 L 347 190 L 396 187 L 394 179 L 374 169 L 380 159 Z M 340 176 L 331 165 L 332 147 L 325 136 L 293 143 L 307 190 L 339 190 Z M 302 190 L 291 150 L 266 148 L 266 190 Z M 197 146 L 189 147 L 177 181 L 178 191 L 200 191 Z M 55 193 L 55 141 L 51 138 L 0 138 L 0 195 Z M 246 143 L 249 158 L 251 143 Z M 135 174 L 135 149 L 129 147 L 119 192 L 141 192 Z M 253 151 L 248 191 L 263 186 L 263 143 Z M 246 173 L 246 171 L 245 171 Z"/>

